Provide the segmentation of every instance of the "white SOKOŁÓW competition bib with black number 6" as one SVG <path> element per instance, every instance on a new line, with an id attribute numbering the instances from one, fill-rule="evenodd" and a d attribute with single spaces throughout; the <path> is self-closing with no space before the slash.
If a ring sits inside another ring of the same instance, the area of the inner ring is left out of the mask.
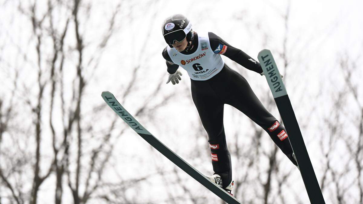
<path id="1" fill-rule="evenodd" d="M 208 33 L 206 35 L 198 33 L 198 48 L 193 54 L 181 54 L 169 46 L 167 46 L 167 51 L 174 64 L 185 69 L 193 80 L 210 79 L 218 74 L 224 66 L 222 57 L 214 53 L 211 48 Z"/>

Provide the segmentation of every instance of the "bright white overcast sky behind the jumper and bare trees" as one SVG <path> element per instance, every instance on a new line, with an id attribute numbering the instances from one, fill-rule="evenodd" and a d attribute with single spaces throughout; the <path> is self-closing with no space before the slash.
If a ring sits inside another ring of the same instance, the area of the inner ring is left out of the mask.
<path id="1" fill-rule="evenodd" d="M 105 19 L 110 17 L 110 11 L 113 11 L 114 5 L 118 1 L 89 2 L 92 2 L 94 5 L 89 17 L 89 21 L 92 23 L 88 24 L 87 30 L 83 34 L 86 36 L 86 43 L 92 46 L 99 39 L 99 33 L 103 33 L 103 30 L 106 29 Z M 308 120 L 306 118 L 307 113 L 304 112 L 305 109 L 301 107 L 309 109 L 313 106 L 312 103 L 323 103 L 329 100 L 329 94 L 341 85 L 342 79 L 339 78 L 341 73 L 337 69 L 338 57 L 341 54 L 347 53 L 351 59 L 355 59 L 362 54 L 363 50 L 363 1 L 359 0 L 290 2 L 287 55 L 291 61 L 287 73 L 285 73 L 285 68 L 282 66 L 278 53 L 282 52 L 282 42 L 286 32 L 282 15 L 286 13 L 288 1 L 164 0 L 156 1 L 152 4 L 145 4 L 144 2 L 146 1 L 126 1 L 122 4 L 121 14 L 117 18 L 118 30 L 110 39 L 108 48 L 105 50 L 100 61 L 102 68 L 96 71 L 92 81 L 90 81 L 91 85 L 85 91 L 87 94 L 86 99 L 89 101 L 89 106 L 84 107 L 85 110 L 89 109 L 91 111 L 93 105 L 102 103 L 100 95 L 104 90 L 109 90 L 118 97 L 118 93 L 122 92 L 123 85 L 126 84 L 126 81 L 130 80 L 132 68 L 138 65 L 140 61 L 147 63 L 140 65 L 142 66 L 142 74 L 136 78 L 137 85 L 135 92 L 131 94 L 132 100 L 126 101 L 123 104 L 131 114 L 138 108 L 138 101 L 143 98 L 144 94 L 150 92 L 148 87 L 155 87 L 152 85 L 157 84 L 160 79 L 166 81 L 166 65 L 161 55 L 166 44 L 160 27 L 163 19 L 174 13 L 186 15 L 192 21 L 193 29 L 196 32 L 214 32 L 229 44 L 243 50 L 256 60 L 260 50 L 270 49 L 274 54 L 280 72 L 287 76 L 284 80 L 287 84 L 287 92 L 290 95 L 298 121 Z M 40 0 L 37 3 L 40 10 L 46 8 L 46 1 Z M 10 95 L 9 89 L 13 87 L 11 79 L 14 77 L 12 71 L 14 67 L 21 70 L 20 77 L 24 79 L 25 84 L 29 87 L 35 87 L 36 85 L 35 53 L 30 35 L 26 34 L 31 32 L 31 25 L 17 11 L 17 4 L 17 1 L 12 0 L 0 1 L 0 13 L 3 14 L 0 18 L 0 97 L 4 98 Z M 155 11 L 158 12 L 154 16 Z M 60 22 L 64 21 L 61 15 L 59 19 Z M 84 20 L 85 17 L 83 16 L 81 19 Z M 146 38 L 145 35 L 148 31 L 145 31 L 145 28 L 149 25 L 152 25 L 152 29 L 150 30 L 150 36 Z M 267 36 L 264 36 L 263 33 L 267 33 Z M 74 38 L 69 39 L 74 40 Z M 69 41 L 68 43 L 71 44 L 72 42 Z M 44 46 L 44 49 L 47 49 L 46 46 Z M 33 64 L 24 64 L 19 61 L 19 58 L 17 58 L 19 52 L 25 54 Z M 232 64 L 228 58 L 224 57 L 224 60 L 227 64 Z M 362 62 L 361 58 L 358 60 Z M 69 66 L 72 66 L 72 62 L 68 63 Z M 241 69 L 236 65 L 232 65 L 232 68 L 241 70 L 240 73 L 247 78 L 258 97 L 262 97 L 267 93 L 268 84 L 264 77 L 247 69 Z M 185 140 L 190 138 L 170 139 L 167 137 L 168 134 L 166 132 L 187 135 L 190 121 L 199 119 L 190 94 L 188 95 L 190 90 L 185 92 L 186 89 L 190 89 L 188 75 L 184 70 L 182 72 L 182 81 L 179 85 L 173 86 L 169 83 L 163 86 L 165 93 L 178 91 L 181 94 L 172 99 L 171 103 L 164 107 L 162 112 L 155 113 L 157 121 L 143 121 L 139 119 L 139 122 L 147 127 L 150 132 L 155 136 L 160 135 L 160 140 L 164 144 L 170 146 L 173 151 L 181 155 L 185 154 L 185 152 L 182 152 L 182 148 L 175 143 L 183 144 L 183 142 L 186 142 Z M 357 75 L 355 79 L 357 81 L 360 80 L 360 76 Z M 301 97 L 302 94 L 309 96 L 317 95 L 319 86 L 323 87 L 323 93 L 318 95 L 317 98 Z M 20 93 L 17 95 L 20 96 Z M 158 99 L 156 98 L 155 100 L 157 101 Z M 328 108 L 329 106 L 319 106 L 315 116 L 329 114 L 326 112 Z M 232 120 L 233 111 L 237 110 L 225 106 L 224 120 L 227 135 L 237 125 Z M 354 107 L 352 107 L 351 111 L 354 111 Z M 278 116 L 276 110 L 273 110 L 272 113 L 276 117 Z M 240 114 L 240 117 L 245 116 Z M 185 118 L 190 119 L 190 121 L 186 122 Z M 317 119 L 312 117 L 309 120 L 315 121 Z M 307 147 L 310 154 L 315 151 L 318 145 L 313 141 L 314 131 L 318 128 L 316 124 L 319 121 L 315 122 L 309 123 L 313 126 L 310 130 L 302 129 L 303 135 L 306 135 L 305 142 L 309 144 L 311 142 L 311 146 Z M 129 148 L 132 155 L 140 158 L 150 156 L 146 142 L 134 134 L 131 129 L 125 134 L 128 135 L 127 138 L 124 137 L 117 141 L 119 146 L 125 146 L 124 144 L 128 143 L 129 145 L 125 148 Z M 232 139 L 232 137 L 227 137 L 227 142 L 233 143 L 229 139 Z M 147 151 L 135 152 L 133 150 L 136 147 L 140 149 L 145 148 Z M 121 154 L 122 151 L 116 150 L 115 155 L 122 157 Z M 162 158 L 158 152 L 154 152 L 153 156 L 156 159 Z M 187 154 L 185 156 L 187 157 Z M 152 165 L 155 162 L 153 159 L 146 160 Z M 206 158 L 207 161 L 205 163 L 211 167 L 208 159 Z M 311 160 L 313 165 L 319 164 L 318 158 L 312 157 Z M 133 162 L 132 160 L 127 160 L 127 158 L 121 159 L 121 161 L 127 164 Z M 117 162 L 119 163 L 120 161 Z M 164 162 L 166 168 L 172 168 L 169 161 Z M 147 168 L 135 168 L 125 169 L 122 164 L 120 167 L 115 167 L 118 171 L 122 171 L 122 175 L 125 178 L 137 178 L 139 175 L 148 173 Z M 207 169 L 207 167 L 205 168 Z M 239 167 L 234 166 L 233 168 L 234 171 L 238 171 Z M 138 173 L 135 175 L 135 172 Z M 319 176 L 319 171 L 316 172 L 317 176 Z M 303 187 L 301 184 L 299 184 L 299 187 Z M 45 188 L 48 185 L 50 183 L 45 183 L 42 186 L 44 191 L 46 191 Z M 154 190 L 158 189 L 155 188 Z M 305 193 L 305 190 L 303 192 Z M 65 203 L 71 199 L 70 194 L 67 195 Z M 43 197 L 40 203 L 48 203 L 48 199 Z M 53 199 L 53 196 L 50 199 Z M 302 199 L 306 200 L 307 196 L 302 195 Z"/>

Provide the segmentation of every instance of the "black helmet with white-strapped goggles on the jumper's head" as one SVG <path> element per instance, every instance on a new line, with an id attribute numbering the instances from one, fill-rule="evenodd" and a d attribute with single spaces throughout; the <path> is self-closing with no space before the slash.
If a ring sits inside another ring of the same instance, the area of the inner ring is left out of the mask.
<path id="1" fill-rule="evenodd" d="M 174 41 L 181 42 L 185 37 L 188 42 L 193 40 L 192 23 L 181 14 L 167 17 L 162 25 L 162 30 L 164 39 L 171 48 Z"/>

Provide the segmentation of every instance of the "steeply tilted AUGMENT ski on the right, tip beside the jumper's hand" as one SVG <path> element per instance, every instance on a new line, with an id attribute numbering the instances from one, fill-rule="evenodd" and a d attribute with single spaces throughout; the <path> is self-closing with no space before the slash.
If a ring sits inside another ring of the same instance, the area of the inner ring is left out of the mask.
<path id="1" fill-rule="evenodd" d="M 282 121 L 285 124 L 287 138 L 295 153 L 302 179 L 305 184 L 307 195 L 312 204 L 325 204 L 318 180 L 316 178 L 313 165 L 311 164 L 309 154 L 295 117 L 289 96 L 277 69 L 276 62 L 270 50 L 264 49 L 258 53 L 262 70 L 270 86 L 272 95 L 275 99 L 277 109 L 280 112 Z"/>

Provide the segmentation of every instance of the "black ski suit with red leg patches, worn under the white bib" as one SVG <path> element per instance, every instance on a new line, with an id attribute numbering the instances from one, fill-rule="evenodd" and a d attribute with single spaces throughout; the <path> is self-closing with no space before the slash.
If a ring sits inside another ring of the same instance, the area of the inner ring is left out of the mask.
<path id="1" fill-rule="evenodd" d="M 229 45 L 214 33 L 209 32 L 208 36 L 212 50 L 215 50 L 220 44 L 226 45 L 227 50 L 223 53 L 225 56 L 247 69 L 262 73 L 260 64 L 242 50 Z M 194 33 L 191 44 L 193 48 L 181 53 L 192 54 L 195 52 L 198 46 L 197 39 L 198 36 Z M 166 59 L 168 73 L 175 73 L 179 65 L 172 62 L 167 48 L 163 50 L 163 57 Z M 210 79 L 205 81 L 191 79 L 191 92 L 201 122 L 208 134 L 213 171 L 222 177 L 223 188 L 226 188 L 232 181 L 231 154 L 227 148 L 223 126 L 224 104 L 237 108 L 261 126 L 291 162 L 297 165 L 292 155 L 290 142 L 286 139 L 285 127 L 265 109 L 241 74 L 224 64 L 223 69 Z"/>

